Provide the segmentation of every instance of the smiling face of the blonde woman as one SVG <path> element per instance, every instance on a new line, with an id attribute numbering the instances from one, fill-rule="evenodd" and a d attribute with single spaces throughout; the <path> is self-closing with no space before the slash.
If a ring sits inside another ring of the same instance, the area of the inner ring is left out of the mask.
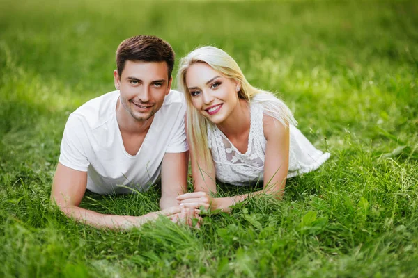
<path id="1" fill-rule="evenodd" d="M 238 81 L 213 70 L 206 63 L 194 63 L 186 72 L 192 104 L 214 124 L 222 124 L 238 104 Z"/>

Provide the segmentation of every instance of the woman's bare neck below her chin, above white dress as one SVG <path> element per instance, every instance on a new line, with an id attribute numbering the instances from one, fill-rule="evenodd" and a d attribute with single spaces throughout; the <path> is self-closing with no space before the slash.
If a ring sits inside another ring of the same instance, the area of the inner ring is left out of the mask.
<path id="1" fill-rule="evenodd" d="M 230 138 L 249 131 L 250 121 L 249 103 L 245 99 L 239 99 L 231 115 L 224 122 L 217 124 L 217 127 Z"/>

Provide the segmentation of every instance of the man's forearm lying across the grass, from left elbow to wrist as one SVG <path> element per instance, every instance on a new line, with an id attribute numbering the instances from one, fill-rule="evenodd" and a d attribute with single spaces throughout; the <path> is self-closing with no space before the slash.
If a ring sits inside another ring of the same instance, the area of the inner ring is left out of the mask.
<path id="1" fill-rule="evenodd" d="M 97 228 L 130 229 L 139 227 L 141 224 L 153 219 L 149 217 L 150 215 L 107 215 L 72 205 L 59 206 L 59 208 L 69 218 Z"/>

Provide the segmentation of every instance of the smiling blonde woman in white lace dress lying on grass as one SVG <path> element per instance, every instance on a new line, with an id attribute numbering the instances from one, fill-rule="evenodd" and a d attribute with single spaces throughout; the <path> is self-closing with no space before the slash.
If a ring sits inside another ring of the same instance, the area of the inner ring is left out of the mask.
<path id="1" fill-rule="evenodd" d="M 201 47 L 180 62 L 178 85 L 187 100 L 187 140 L 194 193 L 185 206 L 222 209 L 249 194 L 213 198 L 215 179 L 246 186 L 263 181 L 260 193 L 281 197 L 286 177 L 316 170 L 330 154 L 318 151 L 296 129 L 283 101 L 251 86 L 222 49 Z"/>

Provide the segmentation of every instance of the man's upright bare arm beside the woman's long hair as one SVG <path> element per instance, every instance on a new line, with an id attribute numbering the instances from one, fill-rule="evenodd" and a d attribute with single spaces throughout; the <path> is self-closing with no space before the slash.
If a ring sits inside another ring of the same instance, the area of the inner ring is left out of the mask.
<path id="1" fill-rule="evenodd" d="M 178 206 L 176 197 L 187 192 L 189 152 L 166 153 L 161 165 L 160 208 Z"/>

